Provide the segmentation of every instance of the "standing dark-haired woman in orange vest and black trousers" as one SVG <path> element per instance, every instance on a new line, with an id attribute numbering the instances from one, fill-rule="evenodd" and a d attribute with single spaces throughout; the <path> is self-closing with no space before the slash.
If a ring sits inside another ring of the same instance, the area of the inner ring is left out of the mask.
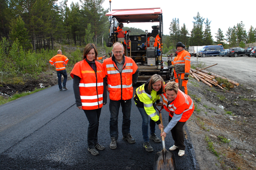
<path id="1" fill-rule="evenodd" d="M 97 59 L 97 49 L 92 43 L 84 48 L 83 60 L 77 62 L 70 76 L 74 78 L 73 89 L 76 106 L 83 110 L 88 122 L 88 151 L 92 155 L 99 155 L 98 150 L 105 147 L 98 143 L 99 118 L 103 104 L 107 103 L 106 75 L 102 64 Z"/>

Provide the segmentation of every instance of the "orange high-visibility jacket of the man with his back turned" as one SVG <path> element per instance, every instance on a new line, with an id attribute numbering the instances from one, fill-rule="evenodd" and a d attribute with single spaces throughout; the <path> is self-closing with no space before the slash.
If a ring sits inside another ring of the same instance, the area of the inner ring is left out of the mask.
<path id="1" fill-rule="evenodd" d="M 52 66 L 56 67 L 56 71 L 66 69 L 68 58 L 65 55 L 57 54 L 49 60 Z"/>

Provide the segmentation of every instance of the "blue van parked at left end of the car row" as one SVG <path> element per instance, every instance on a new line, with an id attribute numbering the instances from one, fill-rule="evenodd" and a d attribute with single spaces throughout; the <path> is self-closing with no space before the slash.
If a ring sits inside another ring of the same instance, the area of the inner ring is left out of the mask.
<path id="1" fill-rule="evenodd" d="M 220 50 L 223 50 L 223 46 L 222 45 L 207 45 L 204 48 L 202 48 L 202 50 L 200 50 L 200 52 L 198 52 L 198 57 L 205 57 L 207 55 L 213 55 L 213 56 L 217 56 L 220 54 Z"/>

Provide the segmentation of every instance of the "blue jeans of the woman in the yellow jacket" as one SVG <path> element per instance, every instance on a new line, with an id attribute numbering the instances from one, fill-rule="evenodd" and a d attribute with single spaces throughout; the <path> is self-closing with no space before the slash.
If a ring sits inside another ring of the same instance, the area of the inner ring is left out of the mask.
<path id="1" fill-rule="evenodd" d="M 154 134 L 156 132 L 156 122 L 152 120 L 146 113 L 144 108 L 137 107 L 140 111 L 141 117 L 142 117 L 142 135 L 144 142 L 148 142 L 148 123 L 150 126 L 150 134 Z"/>

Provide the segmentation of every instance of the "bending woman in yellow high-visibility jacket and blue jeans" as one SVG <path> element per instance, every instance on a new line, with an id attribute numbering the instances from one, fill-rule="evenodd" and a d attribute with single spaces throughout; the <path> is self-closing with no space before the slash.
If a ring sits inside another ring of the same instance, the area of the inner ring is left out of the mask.
<path id="1" fill-rule="evenodd" d="M 158 74 L 154 74 L 147 82 L 136 89 L 134 101 L 142 117 L 143 147 L 147 152 L 153 152 L 154 149 L 149 143 L 149 139 L 160 143 L 161 140 L 156 136 L 156 124 L 159 129 L 163 127 L 159 116 L 155 110 L 155 103 L 160 103 L 160 94 L 163 94 L 164 80 Z M 148 139 L 148 123 L 150 124 L 150 138 Z"/>

